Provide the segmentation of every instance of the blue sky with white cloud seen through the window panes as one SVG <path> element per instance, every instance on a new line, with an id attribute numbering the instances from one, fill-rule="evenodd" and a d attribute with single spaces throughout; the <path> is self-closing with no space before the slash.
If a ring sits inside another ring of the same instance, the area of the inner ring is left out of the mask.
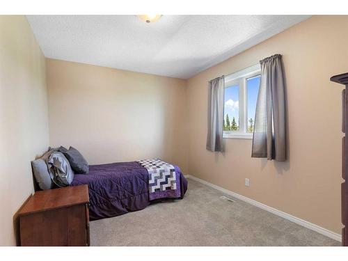
<path id="1" fill-rule="evenodd" d="M 248 100 L 248 109 L 247 109 L 247 117 L 248 120 L 253 118 L 255 120 L 255 109 L 256 102 L 258 100 L 258 90 L 260 86 L 260 77 L 254 77 L 246 80 L 247 86 L 247 100 Z M 230 122 L 232 122 L 232 118 L 235 117 L 235 120 L 238 124 L 239 120 L 239 87 L 228 86 L 225 89 L 225 119 L 226 114 L 228 114 L 228 118 L 230 118 Z M 249 122 L 248 122 L 249 125 Z"/>

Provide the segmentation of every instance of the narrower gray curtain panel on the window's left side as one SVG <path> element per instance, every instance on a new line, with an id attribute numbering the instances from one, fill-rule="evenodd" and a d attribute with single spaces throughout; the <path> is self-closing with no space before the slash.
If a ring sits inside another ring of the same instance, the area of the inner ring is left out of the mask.
<path id="1" fill-rule="evenodd" d="M 223 95 L 224 77 L 209 81 L 207 150 L 223 151 Z"/>

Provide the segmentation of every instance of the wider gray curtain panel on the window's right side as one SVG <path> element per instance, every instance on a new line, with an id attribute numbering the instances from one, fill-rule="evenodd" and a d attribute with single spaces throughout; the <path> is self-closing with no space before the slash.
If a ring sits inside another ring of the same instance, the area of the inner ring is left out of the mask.
<path id="1" fill-rule="evenodd" d="M 251 157 L 286 160 L 285 86 L 280 54 L 261 63 Z"/>

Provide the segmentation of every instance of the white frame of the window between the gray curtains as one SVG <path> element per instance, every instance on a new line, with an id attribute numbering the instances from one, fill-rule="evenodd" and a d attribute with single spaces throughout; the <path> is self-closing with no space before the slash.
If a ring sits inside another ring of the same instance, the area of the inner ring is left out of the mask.
<path id="1" fill-rule="evenodd" d="M 253 133 L 246 132 L 248 129 L 248 88 L 246 80 L 261 74 L 260 63 L 244 70 L 234 72 L 225 77 L 225 89 L 238 83 L 239 86 L 239 130 L 223 131 L 223 139 L 253 139 Z M 225 95 L 223 95 L 225 100 Z M 225 118 L 225 103 L 223 104 L 223 118 Z"/>

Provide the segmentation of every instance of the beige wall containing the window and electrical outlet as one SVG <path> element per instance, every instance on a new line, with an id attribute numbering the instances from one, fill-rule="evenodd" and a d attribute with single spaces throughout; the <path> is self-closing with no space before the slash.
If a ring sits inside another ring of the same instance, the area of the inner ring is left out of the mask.
<path id="1" fill-rule="evenodd" d="M 188 81 L 189 174 L 340 233 L 340 92 L 330 77 L 348 71 L 348 16 L 312 17 Z M 251 158 L 251 140 L 205 150 L 207 81 L 283 54 L 289 160 Z M 244 178 L 251 186 L 244 187 Z"/>

